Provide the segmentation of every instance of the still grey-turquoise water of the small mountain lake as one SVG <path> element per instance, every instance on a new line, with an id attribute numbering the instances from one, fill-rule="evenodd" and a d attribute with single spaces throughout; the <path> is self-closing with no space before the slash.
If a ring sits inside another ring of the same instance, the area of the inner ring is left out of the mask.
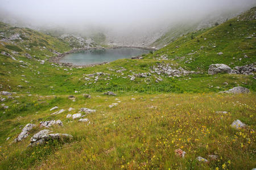
<path id="1" fill-rule="evenodd" d="M 60 62 L 73 63 L 74 65 L 90 65 L 103 62 L 111 62 L 121 58 L 131 58 L 147 54 L 149 50 L 139 48 L 117 48 L 105 50 L 85 50 L 68 54 L 60 59 Z"/>

